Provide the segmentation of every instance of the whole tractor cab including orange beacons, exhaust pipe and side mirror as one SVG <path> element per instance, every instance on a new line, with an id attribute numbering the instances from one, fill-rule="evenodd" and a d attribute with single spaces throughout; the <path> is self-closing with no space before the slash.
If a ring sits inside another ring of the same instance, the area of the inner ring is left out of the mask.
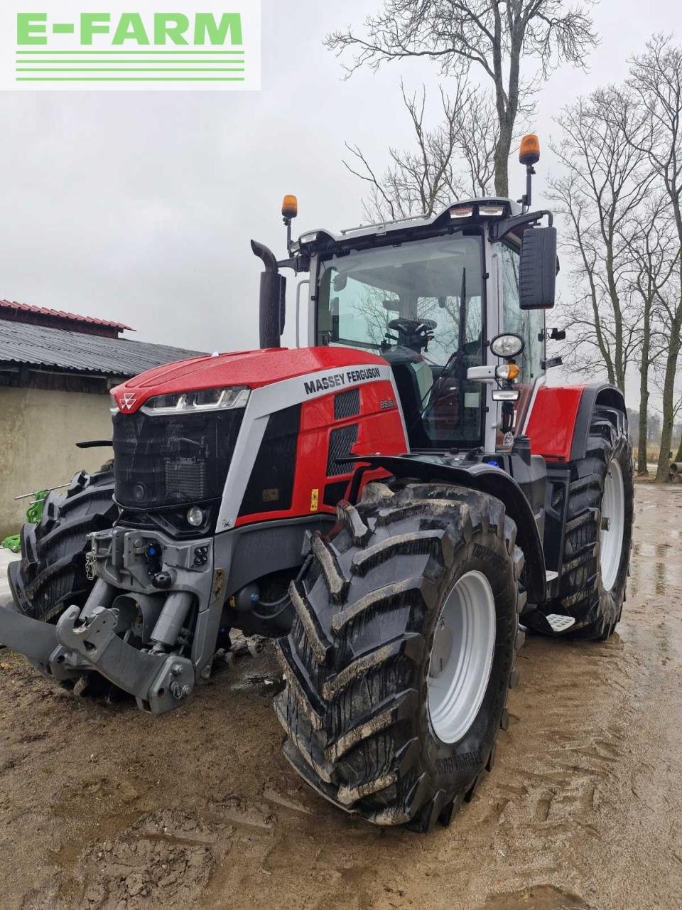
<path id="1" fill-rule="evenodd" d="M 521 154 L 530 173 L 539 157 L 532 138 Z M 310 231 L 296 242 L 296 199 L 285 199 L 290 258 L 276 266 L 309 273 L 297 288 L 297 344 L 307 288 L 305 343 L 386 359 L 412 451 L 510 450 L 524 431 L 544 382 L 545 309 L 554 306 L 557 273 L 551 213 L 530 211 L 530 197 L 529 176 L 520 203 L 471 199 L 431 216 Z M 540 227 L 545 217 L 549 227 Z M 278 328 L 283 288 L 265 277 Z"/>

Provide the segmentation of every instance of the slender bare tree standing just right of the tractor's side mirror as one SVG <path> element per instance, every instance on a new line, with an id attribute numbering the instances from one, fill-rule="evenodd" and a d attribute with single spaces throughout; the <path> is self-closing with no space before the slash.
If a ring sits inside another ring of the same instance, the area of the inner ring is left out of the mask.
<path id="1" fill-rule="evenodd" d="M 568 304 L 580 347 L 591 346 L 610 382 L 625 389 L 627 365 L 637 350 L 637 299 L 628 281 L 627 237 L 651 182 L 644 152 L 623 135 L 618 119 L 635 116 L 632 96 L 599 89 L 568 106 L 557 120 L 562 137 L 554 151 L 566 174 L 550 180 L 550 194 L 567 217 L 566 248 L 582 293 Z"/>

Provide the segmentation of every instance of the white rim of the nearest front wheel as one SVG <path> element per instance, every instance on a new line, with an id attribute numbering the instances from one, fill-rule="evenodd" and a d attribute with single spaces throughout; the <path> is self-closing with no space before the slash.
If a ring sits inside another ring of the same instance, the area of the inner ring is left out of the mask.
<path id="1" fill-rule="evenodd" d="M 482 572 L 468 571 L 443 605 L 428 664 L 428 713 L 443 743 L 459 742 L 476 719 L 490 679 L 495 633 L 490 582 Z"/>

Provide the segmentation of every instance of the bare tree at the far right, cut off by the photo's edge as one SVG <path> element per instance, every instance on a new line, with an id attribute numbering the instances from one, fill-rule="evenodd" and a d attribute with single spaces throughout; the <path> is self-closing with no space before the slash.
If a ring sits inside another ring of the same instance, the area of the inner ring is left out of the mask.
<path id="1" fill-rule="evenodd" d="M 647 154 L 657 182 L 665 192 L 682 247 L 682 48 L 672 45 L 664 35 L 647 43 L 641 56 L 630 67 L 628 84 L 636 93 L 642 111 L 643 128 L 633 130 L 627 119 L 621 128 L 638 152 Z M 668 455 L 675 421 L 675 385 L 682 351 L 682 258 L 677 258 L 674 287 L 667 288 L 663 311 L 667 319 L 669 343 L 663 378 L 663 426 L 658 453 L 657 480 L 667 480 Z"/>

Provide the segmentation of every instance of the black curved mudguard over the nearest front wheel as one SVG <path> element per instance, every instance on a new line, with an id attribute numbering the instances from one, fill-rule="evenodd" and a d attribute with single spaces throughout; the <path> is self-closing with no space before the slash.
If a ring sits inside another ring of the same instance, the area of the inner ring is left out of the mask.
<path id="1" fill-rule="evenodd" d="M 517 523 L 517 542 L 526 556 L 528 602 L 544 603 L 547 600 L 545 555 L 537 523 L 523 490 L 506 471 L 485 461 L 466 461 L 447 455 L 363 455 L 356 460 L 361 466 L 356 471 L 357 480 L 351 484 L 351 500 L 355 499 L 354 492 L 359 488 L 362 473 L 383 468 L 394 477 L 427 482 L 443 480 L 489 493 L 504 502 L 507 514 Z"/>

